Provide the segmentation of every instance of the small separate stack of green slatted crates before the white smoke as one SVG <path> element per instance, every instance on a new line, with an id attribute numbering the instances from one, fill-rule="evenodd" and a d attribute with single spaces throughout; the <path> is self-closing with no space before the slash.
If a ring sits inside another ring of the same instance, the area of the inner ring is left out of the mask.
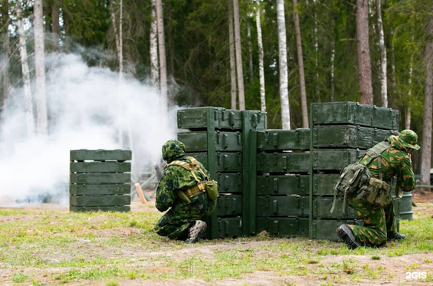
<path id="1" fill-rule="evenodd" d="M 130 210 L 130 150 L 71 150 L 70 159 L 70 211 Z"/>

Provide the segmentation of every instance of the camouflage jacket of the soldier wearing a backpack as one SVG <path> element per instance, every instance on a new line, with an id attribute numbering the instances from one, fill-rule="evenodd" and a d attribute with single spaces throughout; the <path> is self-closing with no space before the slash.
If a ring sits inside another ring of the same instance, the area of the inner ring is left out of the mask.
<path id="1" fill-rule="evenodd" d="M 415 176 L 410 157 L 396 136 L 391 135 L 388 140 L 392 147 L 381 154 L 383 180 L 389 182 L 394 176 L 397 176 L 397 185 L 401 190 L 410 192 L 415 188 Z M 365 155 L 360 163 L 367 165 L 369 158 L 370 156 Z M 378 158 L 373 159 L 368 169 L 376 178 L 379 178 Z"/>

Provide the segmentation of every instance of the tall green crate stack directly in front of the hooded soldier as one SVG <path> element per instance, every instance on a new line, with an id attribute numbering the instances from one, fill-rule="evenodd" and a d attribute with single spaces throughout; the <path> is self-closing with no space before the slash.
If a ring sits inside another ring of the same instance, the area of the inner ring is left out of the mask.
<path id="1" fill-rule="evenodd" d="M 210 239 L 255 232 L 246 217 L 255 209 L 254 191 L 248 187 L 250 165 L 255 162 L 242 150 L 251 149 L 250 131 L 265 130 L 266 126 L 266 113 L 260 111 L 215 107 L 178 111 L 178 128 L 190 130 L 178 133 L 178 140 L 185 144 L 187 156 L 202 163 L 220 188 L 208 223 Z"/>

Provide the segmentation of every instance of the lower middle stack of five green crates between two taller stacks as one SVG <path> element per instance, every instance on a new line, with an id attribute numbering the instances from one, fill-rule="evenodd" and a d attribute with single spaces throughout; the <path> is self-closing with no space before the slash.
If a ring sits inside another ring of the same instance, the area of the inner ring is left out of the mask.
<path id="1" fill-rule="evenodd" d="M 278 236 L 309 230 L 310 129 L 258 131 L 256 229 Z"/>

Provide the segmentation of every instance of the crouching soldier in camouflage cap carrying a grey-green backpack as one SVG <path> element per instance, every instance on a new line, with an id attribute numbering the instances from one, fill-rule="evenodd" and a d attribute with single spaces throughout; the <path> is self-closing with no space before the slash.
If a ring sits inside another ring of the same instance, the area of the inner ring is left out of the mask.
<path id="1" fill-rule="evenodd" d="M 336 229 L 348 248 L 379 246 L 390 239 L 406 238 L 395 227 L 390 181 L 397 176 L 396 195 L 399 187 L 406 192 L 415 188 L 410 153 L 420 149 L 417 139 L 414 131 L 403 130 L 398 136 L 391 135 L 368 149 L 359 164 L 343 168 L 334 189 L 346 193 L 344 200 L 349 201 L 364 222 L 364 226 L 343 224 Z M 352 196 L 349 195 L 351 190 Z"/>

